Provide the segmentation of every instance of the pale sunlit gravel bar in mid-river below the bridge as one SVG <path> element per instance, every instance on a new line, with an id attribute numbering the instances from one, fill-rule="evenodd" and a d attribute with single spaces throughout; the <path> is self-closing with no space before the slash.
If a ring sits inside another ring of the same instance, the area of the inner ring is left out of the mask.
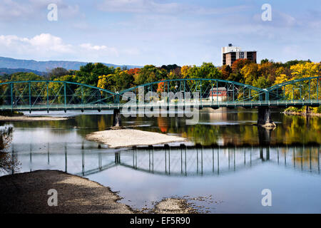
<path id="1" fill-rule="evenodd" d="M 186 141 L 185 138 L 180 138 L 175 135 L 165 135 L 134 129 L 97 131 L 86 135 L 86 140 L 100 142 L 111 148 L 133 147 L 136 145 L 157 145 L 168 142 Z"/>

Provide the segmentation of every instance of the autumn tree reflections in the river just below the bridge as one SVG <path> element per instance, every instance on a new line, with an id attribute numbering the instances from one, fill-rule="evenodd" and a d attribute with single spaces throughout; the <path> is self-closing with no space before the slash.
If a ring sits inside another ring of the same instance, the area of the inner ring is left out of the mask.
<path id="1" fill-rule="evenodd" d="M 321 118 L 290 116 L 273 110 L 275 130 L 265 132 L 254 125 L 258 114 L 255 109 L 201 110 L 197 125 L 186 125 L 185 118 L 123 118 L 123 125 L 139 130 L 178 134 L 202 145 L 278 145 L 293 143 L 321 144 Z M 67 113 L 68 114 L 68 113 Z M 96 114 L 96 113 L 95 113 Z M 69 113 L 68 115 L 73 115 Z M 37 121 L 13 123 L 15 128 L 50 128 L 53 133 L 68 134 L 70 129 L 82 137 L 95 130 L 105 130 L 112 125 L 112 115 L 76 115 L 66 121 Z M 57 129 L 63 129 L 56 131 Z"/>

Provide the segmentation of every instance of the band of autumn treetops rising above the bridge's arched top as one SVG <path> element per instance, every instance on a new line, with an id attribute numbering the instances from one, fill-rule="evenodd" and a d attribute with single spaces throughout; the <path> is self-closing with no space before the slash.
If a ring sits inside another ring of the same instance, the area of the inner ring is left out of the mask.
<path id="1" fill-rule="evenodd" d="M 108 67 L 103 63 L 88 63 L 78 71 L 54 68 L 46 78 L 35 73 L 13 73 L 2 77 L 1 81 L 71 81 L 115 92 L 143 83 L 178 78 L 218 78 L 268 88 L 285 81 L 313 76 L 321 76 L 321 63 L 312 63 L 310 60 L 275 63 L 267 59 L 254 63 L 248 59 L 238 59 L 231 67 L 216 67 L 213 63 L 203 63 L 201 66 L 146 65 L 143 68 L 127 69 Z M 161 83 L 159 86 L 162 86 Z M 320 112 L 320 109 L 312 109 L 312 112 Z"/>

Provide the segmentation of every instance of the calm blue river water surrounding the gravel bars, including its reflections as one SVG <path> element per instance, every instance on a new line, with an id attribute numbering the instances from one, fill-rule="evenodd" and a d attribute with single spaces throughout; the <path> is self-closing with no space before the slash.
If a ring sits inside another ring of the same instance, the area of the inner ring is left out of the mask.
<path id="1" fill-rule="evenodd" d="M 321 212 L 321 118 L 273 110 L 277 128 L 265 130 L 253 125 L 254 109 L 205 109 L 198 125 L 177 117 L 122 117 L 123 125 L 190 140 L 188 147 L 128 150 L 85 140 L 111 125 L 111 112 L 54 115 L 73 118 L 6 123 L 14 127 L 8 151 L 20 162 L 12 172 L 50 169 L 84 176 L 119 191 L 121 202 L 138 209 L 183 197 L 209 213 Z M 272 207 L 261 203 L 264 189 L 272 192 Z"/>

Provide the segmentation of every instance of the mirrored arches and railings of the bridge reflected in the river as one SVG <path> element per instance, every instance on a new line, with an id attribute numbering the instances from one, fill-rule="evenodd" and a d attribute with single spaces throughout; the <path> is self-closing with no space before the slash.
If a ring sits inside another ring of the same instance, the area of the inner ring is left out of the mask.
<path id="1" fill-rule="evenodd" d="M 54 145 L 47 145 L 47 152 L 30 147 L 29 152 L 24 150 L 17 154 L 12 148 L 12 153 L 22 163 L 22 172 L 47 168 L 88 176 L 121 166 L 154 175 L 188 177 L 224 175 L 269 162 L 320 175 L 320 145 L 145 147 L 116 152 L 103 152 L 96 148 L 84 150 L 83 147 L 75 150 L 76 145 L 68 148 L 67 144 L 50 152 L 51 146 Z"/>

